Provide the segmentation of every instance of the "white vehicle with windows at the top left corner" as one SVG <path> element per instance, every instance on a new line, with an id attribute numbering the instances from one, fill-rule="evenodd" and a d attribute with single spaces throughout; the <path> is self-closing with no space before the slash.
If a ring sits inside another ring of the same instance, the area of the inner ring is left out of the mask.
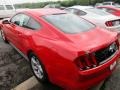
<path id="1" fill-rule="evenodd" d="M 13 5 L 0 5 L 0 19 L 11 17 L 15 12 Z"/>

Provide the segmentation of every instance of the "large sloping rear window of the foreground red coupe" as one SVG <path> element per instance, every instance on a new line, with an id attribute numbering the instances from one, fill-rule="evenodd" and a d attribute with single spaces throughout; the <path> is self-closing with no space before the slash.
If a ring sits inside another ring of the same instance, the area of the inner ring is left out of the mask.
<path id="1" fill-rule="evenodd" d="M 92 23 L 73 14 L 47 15 L 43 18 L 64 33 L 76 34 L 95 27 Z"/>

